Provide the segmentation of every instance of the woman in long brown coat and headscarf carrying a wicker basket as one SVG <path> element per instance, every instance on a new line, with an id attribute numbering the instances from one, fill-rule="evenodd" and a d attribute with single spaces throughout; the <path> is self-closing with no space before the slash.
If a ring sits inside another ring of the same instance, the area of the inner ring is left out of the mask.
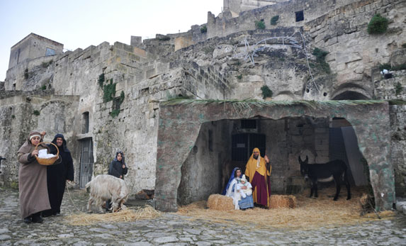
<path id="1" fill-rule="evenodd" d="M 45 133 L 43 132 L 43 135 Z M 18 189 L 20 191 L 20 212 L 25 223 L 42 223 L 41 211 L 50 209 L 47 190 L 47 166 L 37 162 L 38 150 L 46 149 L 45 144 L 35 146 L 43 141 L 38 131 L 30 132 L 28 140 L 18 150 Z"/>

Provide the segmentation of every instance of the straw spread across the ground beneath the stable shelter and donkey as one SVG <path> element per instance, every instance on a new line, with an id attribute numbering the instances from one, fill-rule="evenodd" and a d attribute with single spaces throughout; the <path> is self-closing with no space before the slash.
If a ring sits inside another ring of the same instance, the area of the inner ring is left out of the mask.
<path id="1" fill-rule="evenodd" d="M 310 199 L 308 190 L 296 197 L 297 207 L 261 209 L 253 208 L 246 211 L 214 211 L 206 209 L 205 201 L 182 206 L 176 214 L 189 216 L 190 220 L 210 220 L 215 223 L 240 224 L 249 223 L 252 228 L 291 228 L 310 230 L 320 227 L 339 225 L 355 225 L 371 220 L 378 220 L 375 213 L 360 216 L 363 189 L 351 189 L 352 199 L 346 200 L 346 191 L 342 189 L 338 201 L 332 201 L 335 189 L 328 188 L 319 191 L 318 199 Z M 330 195 L 330 196 L 327 196 Z M 394 212 L 383 211 L 380 216 L 391 218 Z"/>

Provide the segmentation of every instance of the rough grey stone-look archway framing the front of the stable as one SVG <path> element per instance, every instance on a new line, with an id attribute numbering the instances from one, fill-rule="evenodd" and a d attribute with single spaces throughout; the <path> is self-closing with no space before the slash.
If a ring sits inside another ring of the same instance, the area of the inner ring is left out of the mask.
<path id="1" fill-rule="evenodd" d="M 160 104 L 156 207 L 177 211 L 181 166 L 193 149 L 201 125 L 208 121 L 252 118 L 343 117 L 353 125 L 359 150 L 368 162 L 376 208 L 390 209 L 395 201 L 390 162 L 389 106 L 386 101 L 198 101 L 174 100 Z"/>

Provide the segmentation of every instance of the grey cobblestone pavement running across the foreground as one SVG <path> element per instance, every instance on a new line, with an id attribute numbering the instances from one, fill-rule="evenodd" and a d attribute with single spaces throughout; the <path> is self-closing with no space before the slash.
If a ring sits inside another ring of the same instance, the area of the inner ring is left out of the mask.
<path id="1" fill-rule="evenodd" d="M 65 192 L 62 213 L 84 211 L 84 191 Z M 18 191 L 0 188 L 0 245 L 406 245 L 406 217 L 317 230 L 249 230 L 164 213 L 153 220 L 69 225 L 64 217 L 25 224 Z"/>

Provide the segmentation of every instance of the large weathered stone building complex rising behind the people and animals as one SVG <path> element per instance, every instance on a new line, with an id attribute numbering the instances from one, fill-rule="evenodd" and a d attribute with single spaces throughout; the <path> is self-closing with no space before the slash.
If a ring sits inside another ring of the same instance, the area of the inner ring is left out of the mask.
<path id="1" fill-rule="evenodd" d="M 132 36 L 130 45 L 62 52 L 55 42 L 55 54 L 18 64 L 23 40 L 14 45 L 0 91 L 2 184 L 16 185 L 14 153 L 40 129 L 46 140 L 65 135 L 81 187 L 123 150 L 128 186 L 155 189 L 162 211 L 220 192 L 225 164 L 244 167 L 252 147 L 271 159 L 273 192 L 302 191 L 298 156 L 339 158 L 353 185 L 371 182 L 376 197 L 383 194 L 377 207 L 390 208 L 406 194 L 405 1 L 269 1 L 244 9 L 253 2 L 268 1 L 225 0 L 225 11 L 209 12 L 204 25 Z M 371 35 L 376 13 L 388 29 Z M 384 78 L 380 65 L 396 71 Z"/>

